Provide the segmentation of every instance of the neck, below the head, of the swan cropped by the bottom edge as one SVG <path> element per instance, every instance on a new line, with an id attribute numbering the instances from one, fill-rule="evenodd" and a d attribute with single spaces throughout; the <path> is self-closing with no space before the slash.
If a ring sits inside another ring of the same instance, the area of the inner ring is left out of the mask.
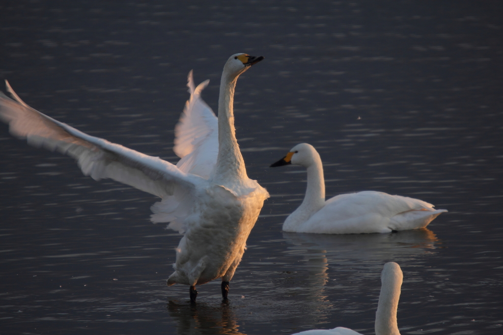
<path id="1" fill-rule="evenodd" d="M 396 322 L 396 310 L 402 284 L 401 271 L 383 276 L 381 294 L 377 304 L 375 332 L 376 335 L 400 335 Z"/>

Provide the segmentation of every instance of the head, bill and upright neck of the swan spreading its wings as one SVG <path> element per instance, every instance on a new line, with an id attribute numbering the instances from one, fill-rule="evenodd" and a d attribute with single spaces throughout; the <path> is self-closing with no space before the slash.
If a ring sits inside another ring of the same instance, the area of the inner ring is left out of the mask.
<path id="1" fill-rule="evenodd" d="M 237 78 L 263 57 L 235 54 L 224 66 L 218 99 L 218 157 L 213 182 L 231 188 L 248 180 L 234 128 L 234 90 Z M 248 63 L 246 63 L 246 60 Z M 241 184 L 241 185 L 239 185 Z"/>

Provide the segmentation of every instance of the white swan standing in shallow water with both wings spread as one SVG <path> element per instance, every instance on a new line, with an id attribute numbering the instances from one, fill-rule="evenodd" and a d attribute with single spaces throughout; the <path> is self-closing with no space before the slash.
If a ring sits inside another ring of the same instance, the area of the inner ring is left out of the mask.
<path id="1" fill-rule="evenodd" d="M 185 233 L 167 285 L 190 285 L 195 301 L 195 285 L 222 278 L 226 299 L 246 239 L 269 197 L 246 175 L 233 114 L 237 77 L 263 58 L 238 53 L 227 60 L 218 121 L 199 96 L 207 82 L 194 88 L 189 81 L 191 99 L 176 129 L 174 150 L 182 157 L 177 166 L 56 121 L 26 105 L 8 84 L 16 101 L 0 94 L 0 119 L 9 123 L 14 136 L 27 138 L 29 144 L 75 158 L 82 172 L 95 180 L 111 178 L 162 198 L 152 206 L 152 221 L 171 222 L 170 228 Z M 214 147 L 217 132 L 218 147 Z"/>

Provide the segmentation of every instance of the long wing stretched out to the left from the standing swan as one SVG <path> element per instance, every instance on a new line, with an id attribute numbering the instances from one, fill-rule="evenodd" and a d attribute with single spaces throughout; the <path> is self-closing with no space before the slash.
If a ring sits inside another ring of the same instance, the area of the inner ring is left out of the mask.
<path id="1" fill-rule="evenodd" d="M 173 220 L 187 215 L 194 189 L 207 183 L 159 157 L 87 135 L 56 121 L 25 104 L 9 83 L 7 89 L 16 101 L 0 92 L 0 120 L 9 124 L 14 136 L 26 138 L 33 146 L 75 158 L 83 174 L 95 180 L 110 178 L 166 200 L 170 198 L 172 215 L 169 218 Z M 182 201 L 186 203 L 179 206 Z M 152 221 L 166 222 L 154 218 Z"/>

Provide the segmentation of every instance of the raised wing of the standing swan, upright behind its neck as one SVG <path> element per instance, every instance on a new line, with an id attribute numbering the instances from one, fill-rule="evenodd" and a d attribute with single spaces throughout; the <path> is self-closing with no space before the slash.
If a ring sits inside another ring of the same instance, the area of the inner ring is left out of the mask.
<path id="1" fill-rule="evenodd" d="M 196 87 L 192 70 L 189 72 L 187 87 L 191 96 L 175 127 L 173 147 L 181 158 L 177 167 L 204 179 L 213 175 L 218 155 L 218 119 L 201 98 L 208 83 L 205 80 Z"/>

